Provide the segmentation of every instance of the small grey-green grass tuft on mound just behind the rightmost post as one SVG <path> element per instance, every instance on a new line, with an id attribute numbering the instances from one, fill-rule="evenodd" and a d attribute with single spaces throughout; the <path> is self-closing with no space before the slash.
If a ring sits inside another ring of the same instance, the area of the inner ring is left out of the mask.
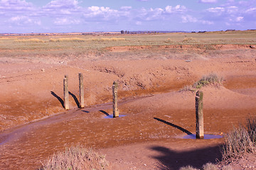
<path id="1" fill-rule="evenodd" d="M 196 81 L 193 85 L 184 86 L 180 91 L 196 91 L 201 89 L 203 86 L 208 86 L 214 84 L 215 86 L 220 86 L 222 84 L 223 78 L 218 77 L 217 74 L 209 74 L 208 76 L 203 76 L 199 81 Z"/>

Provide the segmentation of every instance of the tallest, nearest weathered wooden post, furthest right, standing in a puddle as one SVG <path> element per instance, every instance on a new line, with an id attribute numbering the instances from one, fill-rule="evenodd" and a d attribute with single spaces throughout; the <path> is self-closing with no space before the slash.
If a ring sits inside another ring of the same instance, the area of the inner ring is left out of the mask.
<path id="1" fill-rule="evenodd" d="M 196 139 L 203 139 L 203 91 L 196 92 Z"/>

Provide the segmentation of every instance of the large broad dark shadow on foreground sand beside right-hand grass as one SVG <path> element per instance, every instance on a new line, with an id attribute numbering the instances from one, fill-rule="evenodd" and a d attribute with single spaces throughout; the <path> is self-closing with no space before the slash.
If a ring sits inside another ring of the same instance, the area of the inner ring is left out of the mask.
<path id="1" fill-rule="evenodd" d="M 217 145 L 184 152 L 176 152 L 163 146 L 153 146 L 150 149 L 159 152 L 159 154 L 151 157 L 159 161 L 158 168 L 161 170 L 180 169 L 188 165 L 201 169 L 208 162 L 215 164 L 216 161 L 222 159 L 220 146 Z"/>

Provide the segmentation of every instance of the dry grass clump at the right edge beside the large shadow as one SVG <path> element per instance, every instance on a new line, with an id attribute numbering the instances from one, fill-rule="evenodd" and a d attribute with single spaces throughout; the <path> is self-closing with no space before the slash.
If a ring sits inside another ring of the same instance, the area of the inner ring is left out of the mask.
<path id="1" fill-rule="evenodd" d="M 242 157 L 245 153 L 255 153 L 256 143 L 256 119 L 248 118 L 247 125 L 243 127 L 233 128 L 227 135 L 224 136 L 224 142 L 221 152 L 223 160 L 233 162 Z"/>

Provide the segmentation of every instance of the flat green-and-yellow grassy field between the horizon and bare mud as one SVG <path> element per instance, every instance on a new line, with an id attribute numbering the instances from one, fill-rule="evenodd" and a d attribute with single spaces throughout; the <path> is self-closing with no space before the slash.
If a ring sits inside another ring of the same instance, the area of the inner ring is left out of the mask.
<path id="1" fill-rule="evenodd" d="M 256 45 L 256 30 L 139 35 L 33 35 L 0 37 L 0 57 L 82 54 L 127 45 Z"/>

